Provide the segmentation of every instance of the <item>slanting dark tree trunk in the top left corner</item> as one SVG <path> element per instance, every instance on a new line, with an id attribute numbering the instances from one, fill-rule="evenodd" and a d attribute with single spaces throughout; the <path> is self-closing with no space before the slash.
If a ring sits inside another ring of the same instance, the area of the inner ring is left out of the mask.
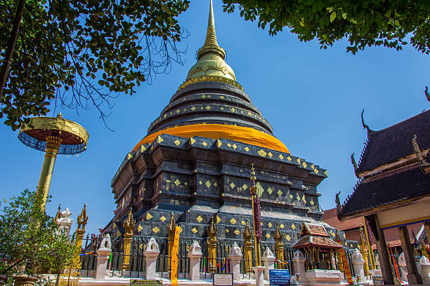
<path id="1" fill-rule="evenodd" d="M 18 31 L 21 25 L 22 11 L 24 11 L 25 0 L 20 0 L 18 2 L 18 7 L 15 14 L 15 19 L 13 20 L 11 39 L 8 43 L 8 48 L 6 49 L 6 55 L 4 57 L 3 65 L 0 71 L 0 102 L 3 100 L 3 89 L 6 84 L 6 79 L 8 78 L 9 68 L 11 67 L 11 60 L 13 49 L 15 48 L 15 43 L 18 39 Z"/>

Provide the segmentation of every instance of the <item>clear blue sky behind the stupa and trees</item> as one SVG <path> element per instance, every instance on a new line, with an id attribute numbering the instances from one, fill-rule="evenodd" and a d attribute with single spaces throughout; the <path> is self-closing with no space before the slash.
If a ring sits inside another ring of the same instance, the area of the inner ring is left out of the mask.
<path id="1" fill-rule="evenodd" d="M 58 204 L 69 207 L 74 222 L 87 204 L 89 233 L 98 233 L 115 210 L 110 182 L 126 154 L 145 137 L 150 123 L 159 116 L 204 43 L 209 1 L 191 0 L 178 20 L 190 36 L 181 43 L 187 48 L 185 64 L 173 64 L 169 74 L 143 83 L 134 95 L 120 95 L 105 127 L 96 109 L 56 109 L 63 118 L 76 121 L 89 132 L 87 150 L 79 156 L 58 156 L 47 205 L 55 215 Z M 318 186 L 320 205 L 334 207 L 334 194 L 341 201 L 357 182 L 350 156 L 356 161 L 363 149 L 365 123 L 381 130 L 429 109 L 424 87 L 430 86 L 430 56 L 412 46 L 396 51 L 367 48 L 356 55 L 346 53 L 346 41 L 321 50 L 316 41 L 304 43 L 287 29 L 276 36 L 247 22 L 239 13 L 222 11 L 214 0 L 219 46 L 227 52 L 226 62 L 263 116 L 273 126 L 275 137 L 294 156 L 327 169 L 328 177 Z M 44 153 L 25 147 L 18 132 L 0 121 L 0 198 L 16 196 L 24 189 L 35 190 Z M 74 225 L 74 228 L 76 226 Z M 72 230 L 73 230 L 72 229 Z"/>

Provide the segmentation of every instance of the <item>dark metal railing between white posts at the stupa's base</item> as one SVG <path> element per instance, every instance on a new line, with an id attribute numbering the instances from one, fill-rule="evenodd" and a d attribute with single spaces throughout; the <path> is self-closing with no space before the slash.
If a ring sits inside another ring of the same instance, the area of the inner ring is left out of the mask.
<path id="1" fill-rule="evenodd" d="M 124 245 L 123 240 L 112 239 L 112 254 L 110 260 L 107 264 L 107 269 L 112 272 L 112 276 L 115 275 L 128 275 L 129 277 L 140 278 L 144 276 L 145 273 L 145 257 L 143 255 L 143 251 L 145 250 L 145 244 L 148 243 L 150 238 L 143 236 L 134 236 L 131 240 L 131 252 L 129 254 L 129 269 L 124 270 L 122 265 L 124 262 Z M 97 257 L 96 252 L 100 247 L 101 238 L 98 237 L 90 237 L 87 236 L 84 238 L 82 244 L 82 254 L 81 254 L 81 262 L 82 262 L 82 270 L 81 275 L 89 276 L 91 275 L 91 271 L 96 270 L 97 266 Z M 196 239 L 182 239 L 179 242 L 178 249 L 178 278 L 185 278 L 186 273 L 190 271 L 190 259 L 188 258 L 188 250 L 190 245 L 193 243 L 193 240 Z M 207 247 L 207 239 L 197 239 L 197 242 L 202 247 L 202 259 L 200 259 L 200 273 L 204 273 L 205 278 L 210 278 L 211 273 L 211 261 L 209 261 L 209 253 Z M 159 256 L 156 261 L 156 269 L 157 272 L 160 273 L 161 278 L 169 277 L 169 271 L 171 268 L 171 257 L 169 257 L 169 245 L 167 240 L 163 240 L 162 242 L 157 242 L 159 245 Z M 216 267 L 216 273 L 230 273 L 230 261 L 228 259 L 228 253 L 230 252 L 230 248 L 233 246 L 233 243 L 226 242 L 218 242 L 216 244 L 216 264 L 213 265 Z M 245 266 L 245 250 L 242 243 L 238 243 L 238 246 L 242 250 L 242 259 L 240 261 L 240 271 L 245 277 L 247 275 L 246 266 Z M 275 254 L 276 257 L 276 247 L 274 243 L 261 243 L 261 253 L 266 250 L 266 247 Z M 288 268 L 290 273 L 295 273 L 294 264 L 292 263 L 292 258 L 294 257 L 294 250 L 288 247 L 284 249 L 284 257 L 285 261 L 290 261 L 283 268 Z M 254 247 L 252 248 L 252 262 L 251 265 L 255 265 L 255 257 L 254 257 Z M 275 263 L 276 267 L 276 263 Z"/>

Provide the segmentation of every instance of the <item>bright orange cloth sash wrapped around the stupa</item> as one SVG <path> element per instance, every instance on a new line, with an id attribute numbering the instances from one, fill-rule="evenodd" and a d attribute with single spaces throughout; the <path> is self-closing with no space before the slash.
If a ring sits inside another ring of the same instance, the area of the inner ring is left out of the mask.
<path id="1" fill-rule="evenodd" d="M 224 138 L 289 153 L 285 144 L 272 135 L 268 135 L 267 133 L 254 128 L 222 124 L 195 124 L 161 130 L 141 139 L 136 147 L 134 147 L 133 151 L 136 151 L 142 144 L 152 143 L 158 135 L 162 134 L 187 138 L 193 136 L 201 136 L 211 139 Z"/>

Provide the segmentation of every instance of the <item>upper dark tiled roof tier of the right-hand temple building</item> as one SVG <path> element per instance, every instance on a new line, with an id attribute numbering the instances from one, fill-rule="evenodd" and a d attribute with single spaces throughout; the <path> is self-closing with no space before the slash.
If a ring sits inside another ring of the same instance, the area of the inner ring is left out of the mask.
<path id="1" fill-rule="evenodd" d="M 369 130 L 368 140 L 360 157 L 357 174 L 392 163 L 414 154 L 412 138 L 417 135 L 419 149 L 430 148 L 430 110 L 388 128 Z"/>

